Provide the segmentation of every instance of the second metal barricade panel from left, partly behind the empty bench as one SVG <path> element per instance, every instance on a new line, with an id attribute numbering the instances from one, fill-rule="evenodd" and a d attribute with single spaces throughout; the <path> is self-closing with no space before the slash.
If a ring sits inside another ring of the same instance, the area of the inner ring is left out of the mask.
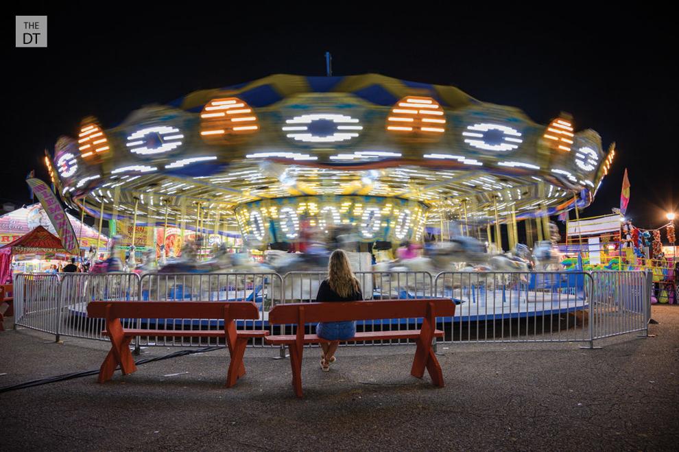
<path id="1" fill-rule="evenodd" d="M 61 278 L 59 335 L 108 340 L 102 335 L 106 321 L 87 316 L 91 301 L 139 300 L 139 276 L 134 273 L 69 273 Z M 134 328 L 134 319 L 121 319 L 123 328 Z"/>

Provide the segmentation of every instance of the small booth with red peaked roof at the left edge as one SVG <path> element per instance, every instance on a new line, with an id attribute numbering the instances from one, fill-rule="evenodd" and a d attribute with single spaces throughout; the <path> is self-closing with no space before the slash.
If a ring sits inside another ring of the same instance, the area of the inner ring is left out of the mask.
<path id="1" fill-rule="evenodd" d="M 12 271 L 43 272 L 51 265 L 67 261 L 70 254 L 64 250 L 61 239 L 38 226 L 0 248 L 0 283 L 12 282 Z M 19 262 L 31 261 L 29 268 L 19 267 Z"/>

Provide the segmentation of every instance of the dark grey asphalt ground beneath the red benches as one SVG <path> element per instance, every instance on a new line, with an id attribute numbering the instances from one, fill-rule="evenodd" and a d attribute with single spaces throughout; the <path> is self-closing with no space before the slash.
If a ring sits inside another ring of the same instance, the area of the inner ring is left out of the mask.
<path id="1" fill-rule="evenodd" d="M 340 348 L 331 372 L 305 349 L 304 399 L 289 360 L 249 348 L 225 389 L 217 350 L 0 394 L 0 450 L 677 450 L 679 307 L 656 337 L 580 344 L 445 344 L 445 388 L 409 375 L 413 346 Z M 5 328 L 11 320 L 5 320 Z M 99 368 L 108 344 L 0 333 L 0 387 Z M 140 359 L 177 348 L 151 347 Z"/>

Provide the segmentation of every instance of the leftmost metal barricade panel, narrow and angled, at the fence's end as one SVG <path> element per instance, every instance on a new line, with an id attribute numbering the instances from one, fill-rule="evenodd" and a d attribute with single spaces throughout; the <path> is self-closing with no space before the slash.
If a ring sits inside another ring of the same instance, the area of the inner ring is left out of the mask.
<path id="1" fill-rule="evenodd" d="M 58 334 L 59 276 L 50 273 L 14 277 L 14 324 Z"/>

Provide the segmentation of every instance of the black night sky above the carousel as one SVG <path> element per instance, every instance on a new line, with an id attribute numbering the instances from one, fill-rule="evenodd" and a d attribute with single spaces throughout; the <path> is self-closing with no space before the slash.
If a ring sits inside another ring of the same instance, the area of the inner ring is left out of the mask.
<path id="1" fill-rule="evenodd" d="M 401 17 L 359 11 L 355 16 L 365 21 L 358 23 L 348 15 L 339 21 L 331 14 L 302 20 L 256 10 L 198 13 L 189 3 L 173 14 L 169 2 L 158 14 L 115 4 L 115 12 L 93 3 L 15 12 L 47 14 L 47 49 L 14 48 L 8 22 L 9 143 L 0 202 L 28 202 L 26 174 L 36 169 L 47 180 L 43 150 L 60 134 L 75 136 L 86 115 L 109 128 L 145 104 L 201 88 L 272 73 L 324 75 L 324 52 L 331 51 L 333 75 L 374 72 L 451 84 L 481 101 L 519 107 L 542 124 L 570 112 L 576 130 L 599 132 L 604 150 L 617 143 L 612 172 L 583 215 L 619 206 L 625 168 L 636 226 L 660 226 L 667 210 L 679 211 L 679 40 L 674 24 L 643 12 L 619 18 L 574 11 L 567 20 L 545 13 L 531 21 L 460 12 L 439 23 L 436 10 Z"/>

